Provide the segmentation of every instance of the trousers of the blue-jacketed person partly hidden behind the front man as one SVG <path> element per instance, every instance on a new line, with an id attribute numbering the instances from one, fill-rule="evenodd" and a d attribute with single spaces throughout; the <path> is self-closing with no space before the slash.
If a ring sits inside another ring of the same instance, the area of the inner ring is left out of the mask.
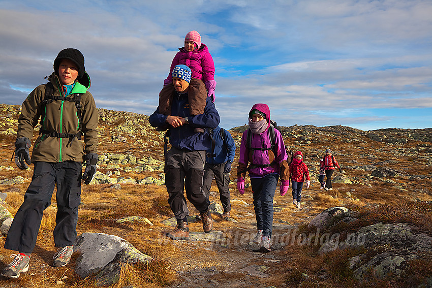
<path id="1" fill-rule="evenodd" d="M 204 184 L 202 191 L 207 199 L 210 197 L 211 180 L 216 180 L 218 185 L 219 195 L 221 197 L 222 207 L 224 212 L 231 211 L 231 195 L 230 195 L 230 178 L 228 173 L 224 173 L 225 163 L 210 164 L 206 163 L 204 166 Z"/>

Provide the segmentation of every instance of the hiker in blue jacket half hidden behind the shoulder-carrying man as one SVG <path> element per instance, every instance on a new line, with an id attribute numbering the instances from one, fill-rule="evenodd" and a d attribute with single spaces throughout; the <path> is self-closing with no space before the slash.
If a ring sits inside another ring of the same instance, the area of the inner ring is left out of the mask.
<path id="1" fill-rule="evenodd" d="M 230 177 L 231 164 L 235 156 L 235 143 L 231 134 L 225 129 L 217 126 L 211 131 L 212 144 L 207 150 L 204 166 L 203 193 L 207 199 L 210 197 L 210 187 L 213 176 L 218 185 L 219 195 L 224 208 L 222 218 L 230 216 L 231 195 Z M 214 141 L 214 142 L 213 142 Z"/>

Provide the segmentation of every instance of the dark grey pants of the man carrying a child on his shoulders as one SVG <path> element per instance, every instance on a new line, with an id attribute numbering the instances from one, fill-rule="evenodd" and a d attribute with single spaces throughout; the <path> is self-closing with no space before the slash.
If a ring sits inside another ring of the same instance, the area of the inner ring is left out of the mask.
<path id="1" fill-rule="evenodd" d="M 176 219 L 189 216 L 186 197 L 201 213 L 207 212 L 210 201 L 201 191 L 204 174 L 205 151 L 183 151 L 171 147 L 167 155 L 165 186 L 168 191 L 168 204 Z"/>

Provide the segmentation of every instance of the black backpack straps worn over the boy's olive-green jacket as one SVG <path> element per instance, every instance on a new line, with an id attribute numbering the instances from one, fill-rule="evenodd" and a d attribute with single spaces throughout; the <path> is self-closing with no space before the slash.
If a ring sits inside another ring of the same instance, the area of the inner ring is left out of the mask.
<path id="1" fill-rule="evenodd" d="M 41 126 L 43 127 L 43 121 L 45 119 L 45 110 L 46 110 L 46 105 L 53 102 L 54 100 L 61 100 L 61 101 L 70 101 L 70 102 L 75 102 L 75 106 L 77 108 L 77 117 L 79 120 L 79 126 L 78 126 L 78 131 L 76 134 L 72 134 L 72 133 L 58 133 L 58 132 L 52 132 L 52 131 L 47 131 L 41 129 L 39 130 L 39 135 L 40 134 L 44 134 L 50 137 L 56 137 L 56 138 L 69 138 L 69 143 L 71 143 L 75 138 L 77 138 L 78 140 L 81 140 L 81 135 L 82 135 L 82 115 L 81 115 L 81 93 L 74 93 L 73 94 L 74 97 L 70 98 L 70 97 L 64 97 L 62 95 L 60 96 L 54 96 L 54 87 L 52 86 L 51 82 L 48 82 L 46 84 L 45 87 L 45 97 L 42 100 L 42 105 L 43 105 L 43 109 L 42 109 L 42 113 L 41 113 Z M 69 144 L 68 143 L 68 144 Z"/>

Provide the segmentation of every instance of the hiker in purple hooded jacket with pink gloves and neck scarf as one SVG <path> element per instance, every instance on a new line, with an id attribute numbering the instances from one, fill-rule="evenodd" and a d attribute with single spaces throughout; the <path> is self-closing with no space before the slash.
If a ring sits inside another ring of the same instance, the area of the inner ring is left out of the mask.
<path id="1" fill-rule="evenodd" d="M 251 164 L 248 167 L 249 162 Z M 258 229 L 253 242 L 260 244 L 261 251 L 270 251 L 274 191 L 279 177 L 281 196 L 287 193 L 290 182 L 284 140 L 281 133 L 270 124 L 270 109 L 266 104 L 252 107 L 249 129 L 241 137 L 237 167 L 237 189 L 240 194 L 244 194 L 246 171 L 251 177 Z"/>

